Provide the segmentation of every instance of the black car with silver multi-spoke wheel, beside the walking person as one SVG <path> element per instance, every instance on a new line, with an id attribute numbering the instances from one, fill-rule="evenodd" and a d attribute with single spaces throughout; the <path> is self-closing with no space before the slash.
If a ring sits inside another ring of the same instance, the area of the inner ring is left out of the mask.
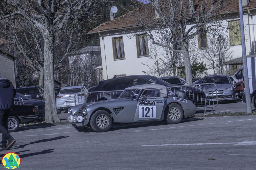
<path id="1" fill-rule="evenodd" d="M 38 114 L 36 114 L 34 106 L 14 105 L 9 114 L 8 131 L 15 132 L 20 123 L 33 122 L 36 118 L 38 118 Z"/>

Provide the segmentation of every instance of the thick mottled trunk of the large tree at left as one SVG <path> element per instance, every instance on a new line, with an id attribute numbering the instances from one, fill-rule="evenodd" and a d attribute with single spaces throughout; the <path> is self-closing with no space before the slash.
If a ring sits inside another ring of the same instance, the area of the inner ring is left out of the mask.
<path id="1" fill-rule="evenodd" d="M 42 35 L 44 37 L 45 122 L 60 122 L 54 94 L 54 36 L 47 29 L 42 31 Z"/>

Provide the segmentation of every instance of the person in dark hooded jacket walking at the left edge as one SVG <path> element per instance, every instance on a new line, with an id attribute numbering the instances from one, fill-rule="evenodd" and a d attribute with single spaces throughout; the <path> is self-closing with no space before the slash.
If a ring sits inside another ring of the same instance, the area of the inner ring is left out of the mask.
<path id="1" fill-rule="evenodd" d="M 16 90 L 13 84 L 0 77 L 0 132 L 2 132 L 2 149 L 10 149 L 16 140 L 8 132 L 8 118 L 10 110 L 13 108 L 14 96 L 16 95 Z M 8 145 L 6 146 L 8 141 Z"/>

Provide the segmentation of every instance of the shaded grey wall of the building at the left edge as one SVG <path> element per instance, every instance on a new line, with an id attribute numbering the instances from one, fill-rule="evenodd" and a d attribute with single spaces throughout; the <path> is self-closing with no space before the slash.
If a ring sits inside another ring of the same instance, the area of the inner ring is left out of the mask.
<path id="1" fill-rule="evenodd" d="M 0 76 L 9 79 L 16 88 L 13 58 L 2 53 L 0 53 Z"/>

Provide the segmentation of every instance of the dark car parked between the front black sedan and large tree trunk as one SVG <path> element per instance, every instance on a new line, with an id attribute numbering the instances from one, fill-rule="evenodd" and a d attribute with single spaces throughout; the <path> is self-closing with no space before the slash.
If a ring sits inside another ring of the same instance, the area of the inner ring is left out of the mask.
<path id="1" fill-rule="evenodd" d="M 36 114 L 38 114 L 38 117 L 45 119 L 45 101 L 44 100 L 30 99 L 22 94 L 16 93 L 14 104 L 34 106 L 36 109 Z"/>

